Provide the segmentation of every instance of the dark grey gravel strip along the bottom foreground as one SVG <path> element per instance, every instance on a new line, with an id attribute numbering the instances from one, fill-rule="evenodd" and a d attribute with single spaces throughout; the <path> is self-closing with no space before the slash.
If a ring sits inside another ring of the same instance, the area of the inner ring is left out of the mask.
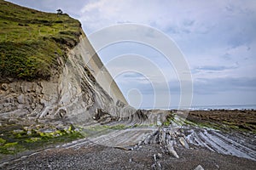
<path id="1" fill-rule="evenodd" d="M 1 169 L 254 169 L 256 161 L 224 156 L 202 148 L 176 148 L 179 158 L 162 153 L 159 144 L 137 150 L 102 145 L 44 150 L 11 161 Z"/>

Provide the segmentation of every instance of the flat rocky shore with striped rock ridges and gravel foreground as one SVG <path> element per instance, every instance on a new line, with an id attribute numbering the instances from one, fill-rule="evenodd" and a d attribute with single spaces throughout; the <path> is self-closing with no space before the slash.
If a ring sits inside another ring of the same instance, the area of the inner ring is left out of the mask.
<path id="1" fill-rule="evenodd" d="M 190 111 L 188 116 L 181 112 L 175 115 L 165 126 L 119 128 L 14 156 L 2 162 L 0 169 L 256 167 L 256 111 Z"/>

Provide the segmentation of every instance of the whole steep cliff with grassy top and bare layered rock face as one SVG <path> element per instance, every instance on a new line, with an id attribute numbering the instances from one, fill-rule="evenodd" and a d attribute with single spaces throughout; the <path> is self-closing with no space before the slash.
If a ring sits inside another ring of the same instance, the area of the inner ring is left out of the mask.
<path id="1" fill-rule="evenodd" d="M 78 20 L 0 3 L 1 125 L 110 122 L 135 113 Z"/>

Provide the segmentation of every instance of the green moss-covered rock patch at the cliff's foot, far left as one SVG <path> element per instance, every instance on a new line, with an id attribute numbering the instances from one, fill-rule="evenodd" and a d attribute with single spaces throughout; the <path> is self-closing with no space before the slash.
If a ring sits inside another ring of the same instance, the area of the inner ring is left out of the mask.
<path id="1" fill-rule="evenodd" d="M 44 132 L 40 132 L 40 130 L 43 130 L 40 127 L 44 127 Z M 56 130 L 55 127 L 47 125 L 30 127 L 9 125 L 2 127 L 3 136 L 0 138 L 0 154 L 13 155 L 24 150 L 38 150 L 49 145 L 67 143 L 75 139 L 84 138 L 80 132 L 71 129 L 73 127 L 67 127 L 67 131 L 70 132 L 67 133 L 64 130 Z M 27 134 L 27 132 L 32 133 Z"/>

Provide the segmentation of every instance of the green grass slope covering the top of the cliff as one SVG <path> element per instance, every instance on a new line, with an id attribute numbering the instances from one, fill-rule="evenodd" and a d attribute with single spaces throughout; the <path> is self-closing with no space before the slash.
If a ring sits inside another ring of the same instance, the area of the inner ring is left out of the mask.
<path id="1" fill-rule="evenodd" d="M 56 8 L 57 9 L 57 8 Z M 79 42 L 79 20 L 0 0 L 0 82 L 49 79 Z"/>

